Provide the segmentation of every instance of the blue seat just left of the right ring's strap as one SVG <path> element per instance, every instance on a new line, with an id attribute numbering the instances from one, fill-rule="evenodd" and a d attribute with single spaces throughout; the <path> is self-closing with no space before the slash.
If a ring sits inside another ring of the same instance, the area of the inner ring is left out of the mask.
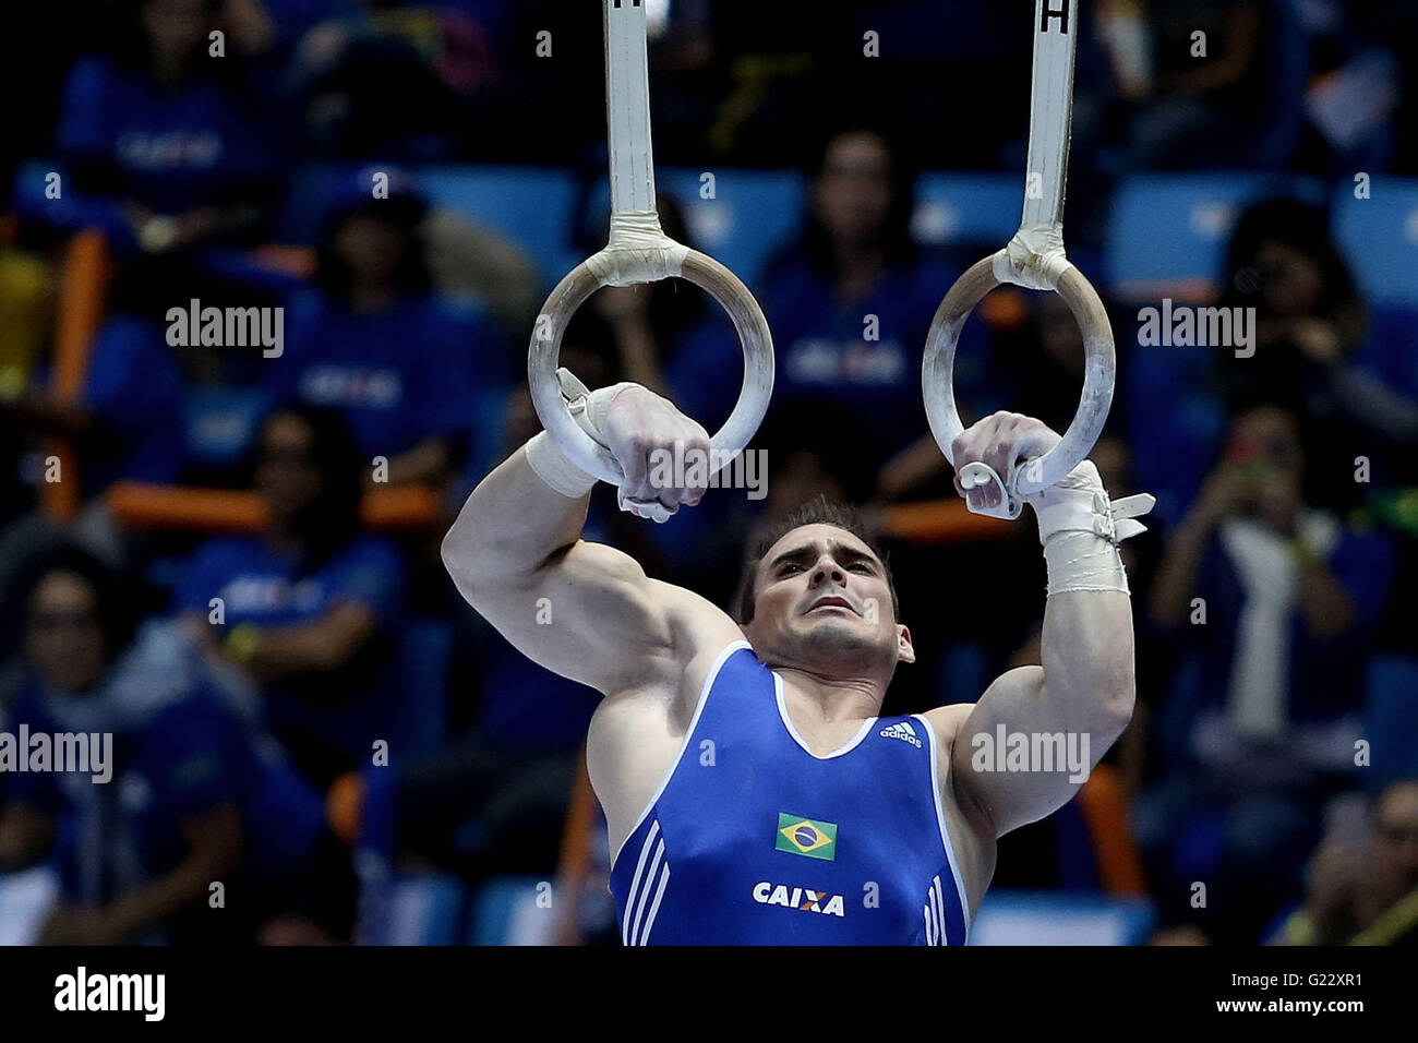
<path id="1" fill-rule="evenodd" d="M 1017 175 L 926 173 L 916 179 L 910 234 L 922 245 L 998 250 L 1020 227 L 1022 210 Z"/>

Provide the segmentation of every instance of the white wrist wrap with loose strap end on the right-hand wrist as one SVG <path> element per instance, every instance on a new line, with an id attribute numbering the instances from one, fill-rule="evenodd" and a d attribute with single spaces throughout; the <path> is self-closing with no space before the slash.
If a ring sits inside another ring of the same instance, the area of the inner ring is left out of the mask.
<path id="1" fill-rule="evenodd" d="M 1134 521 L 1156 497 L 1140 494 L 1109 501 L 1098 467 L 1085 460 L 1055 485 L 1024 497 L 1039 521 L 1039 542 L 1051 595 L 1065 590 L 1127 590 L 1117 545 L 1144 532 Z"/>

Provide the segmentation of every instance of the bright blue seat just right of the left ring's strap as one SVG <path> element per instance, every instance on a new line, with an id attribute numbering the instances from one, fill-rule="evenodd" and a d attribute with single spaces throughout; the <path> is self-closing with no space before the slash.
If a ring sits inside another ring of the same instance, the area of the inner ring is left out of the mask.
<path id="1" fill-rule="evenodd" d="M 757 289 L 769 258 L 798 231 L 803 179 L 794 170 L 713 170 L 713 199 L 702 199 L 705 173 L 664 169 L 655 183 L 679 203 L 693 244 Z M 596 221 L 610 214 L 607 179 L 596 186 L 590 207 Z"/>

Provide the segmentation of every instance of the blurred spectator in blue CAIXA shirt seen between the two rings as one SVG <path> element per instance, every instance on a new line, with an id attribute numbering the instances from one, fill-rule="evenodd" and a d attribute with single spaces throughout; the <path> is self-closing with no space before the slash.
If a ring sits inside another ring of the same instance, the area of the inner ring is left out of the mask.
<path id="1" fill-rule="evenodd" d="M 803 237 L 769 267 L 763 294 L 777 351 L 773 407 L 808 403 L 815 426 L 871 430 L 886 451 L 875 484 L 885 498 L 946 471 L 940 448 L 922 434 L 920 358 L 954 278 L 910 240 L 912 183 L 879 131 L 832 135 L 811 169 Z M 967 325 L 956 363 L 966 413 L 984 397 L 978 339 L 978 326 Z M 671 365 L 675 402 L 710 430 L 737 397 L 737 356 L 736 345 L 705 345 Z"/>

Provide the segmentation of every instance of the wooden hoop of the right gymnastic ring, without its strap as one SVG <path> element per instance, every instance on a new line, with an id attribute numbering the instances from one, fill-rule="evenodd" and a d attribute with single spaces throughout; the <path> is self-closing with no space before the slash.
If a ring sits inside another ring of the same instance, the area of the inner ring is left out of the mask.
<path id="1" fill-rule="evenodd" d="M 976 305 L 995 287 L 1001 285 L 995 275 L 998 254 L 977 261 L 964 275 L 956 280 L 950 292 L 936 309 L 936 318 L 926 335 L 926 355 L 922 359 L 922 387 L 926 396 L 926 417 L 930 433 L 936 437 L 946 458 L 954 465 L 951 444 L 964 431 L 960 412 L 956 409 L 954 365 L 956 345 L 960 329 Z M 1007 261 L 1001 261 L 1007 264 Z M 1117 359 L 1113 352 L 1113 329 L 1107 311 L 1098 291 L 1072 264 L 1059 275 L 1055 292 L 1062 297 L 1073 312 L 1083 333 L 1083 393 L 1079 397 L 1078 413 L 1064 433 L 1062 441 L 1041 457 L 1029 460 L 1014 478 L 1014 490 L 1021 495 L 1038 492 L 1059 481 L 1065 474 L 1088 458 L 1107 421 L 1107 409 L 1113 402 L 1113 385 L 1117 377 Z"/>

